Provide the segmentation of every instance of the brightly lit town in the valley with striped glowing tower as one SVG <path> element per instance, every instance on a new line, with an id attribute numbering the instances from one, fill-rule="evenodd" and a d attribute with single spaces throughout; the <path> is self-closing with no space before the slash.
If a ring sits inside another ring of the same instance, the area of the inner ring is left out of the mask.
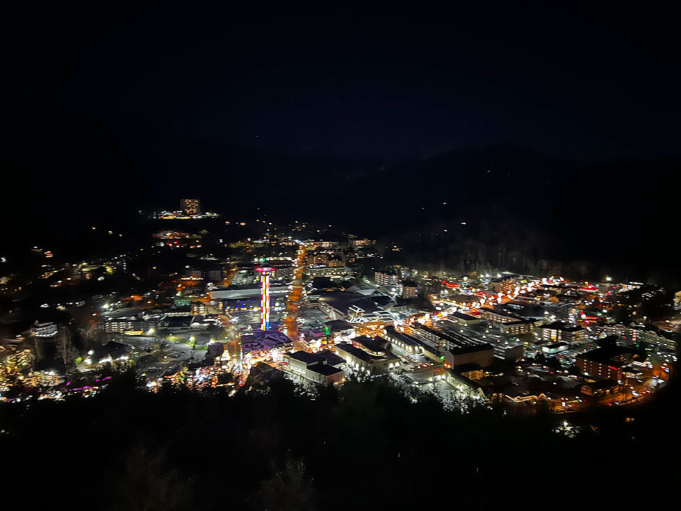
<path id="1" fill-rule="evenodd" d="M 187 222 L 206 218 L 197 200 L 182 204 Z M 211 222 L 215 232 L 161 229 L 98 261 L 35 248 L 27 280 L 3 276 L 19 305 L 3 316 L 1 400 L 92 396 L 129 368 L 152 392 L 381 378 L 445 406 L 570 414 L 647 400 L 677 362 L 681 291 L 607 275 L 429 273 L 394 245 L 302 220 Z M 130 276 L 131 293 L 113 291 Z M 35 311 L 20 305 L 33 289 L 44 290 Z"/>

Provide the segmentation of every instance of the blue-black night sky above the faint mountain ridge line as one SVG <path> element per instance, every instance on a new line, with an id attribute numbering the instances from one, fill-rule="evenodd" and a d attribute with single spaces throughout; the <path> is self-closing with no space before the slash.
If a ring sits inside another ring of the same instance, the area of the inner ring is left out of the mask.
<path id="1" fill-rule="evenodd" d="M 671 13 L 395 5 L 22 6 L 8 16 L 19 118 L 47 128 L 38 143 L 66 116 L 124 147 L 172 135 L 345 159 L 495 143 L 680 154 Z"/>

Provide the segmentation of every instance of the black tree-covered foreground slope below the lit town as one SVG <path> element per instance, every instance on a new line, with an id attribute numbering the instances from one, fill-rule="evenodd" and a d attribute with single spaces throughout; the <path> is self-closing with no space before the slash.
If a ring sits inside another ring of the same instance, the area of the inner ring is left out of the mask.
<path id="1" fill-rule="evenodd" d="M 231 398 L 170 387 L 149 394 L 136 383 L 119 375 L 95 398 L 0 407 L 3 501 L 111 510 L 657 507 L 671 502 L 678 474 L 675 382 L 635 408 L 523 417 L 445 411 L 436 397 L 405 396 L 386 380 L 320 388 L 315 398 L 283 379 L 249 382 Z M 564 420 L 582 433 L 552 432 Z"/>

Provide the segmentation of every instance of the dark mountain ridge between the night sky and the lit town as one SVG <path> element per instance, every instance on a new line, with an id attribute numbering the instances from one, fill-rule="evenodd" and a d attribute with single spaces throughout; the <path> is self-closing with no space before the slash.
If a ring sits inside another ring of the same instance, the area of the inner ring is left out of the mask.
<path id="1" fill-rule="evenodd" d="M 463 257 L 452 247 L 482 243 L 476 250 L 491 264 L 503 244 L 525 259 L 635 263 L 644 271 L 632 273 L 678 275 L 669 245 L 678 216 L 676 159 L 576 160 L 496 145 L 412 161 L 344 161 L 159 127 L 148 133 L 129 137 L 58 112 L 42 123 L 26 117 L 15 136 L 40 147 L 10 145 L 5 155 L 5 168 L 18 177 L 8 207 L 22 211 L 21 222 L 8 222 L 7 238 L 69 243 L 65 226 L 134 228 L 138 210 L 172 209 L 181 197 L 197 196 L 227 218 L 328 222 L 444 266 Z"/>

